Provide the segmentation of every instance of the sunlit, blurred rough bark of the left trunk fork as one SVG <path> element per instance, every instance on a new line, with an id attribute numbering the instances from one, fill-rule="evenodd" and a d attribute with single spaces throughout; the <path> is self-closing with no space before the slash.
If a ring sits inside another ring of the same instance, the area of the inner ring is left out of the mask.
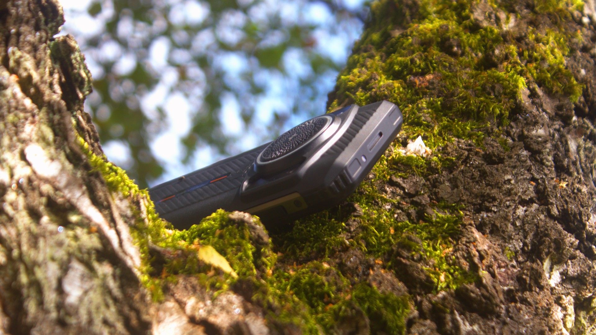
<path id="1" fill-rule="evenodd" d="M 91 76 L 54 1 L 0 12 L 0 244 L 5 333 L 137 333 L 150 324 L 137 206 L 92 172 L 77 134 L 101 154 L 83 100 Z"/>

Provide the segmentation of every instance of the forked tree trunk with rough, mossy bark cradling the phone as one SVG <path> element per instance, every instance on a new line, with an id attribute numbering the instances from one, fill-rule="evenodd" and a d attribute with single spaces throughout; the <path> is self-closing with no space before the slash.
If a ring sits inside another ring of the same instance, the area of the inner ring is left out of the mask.
<path id="1" fill-rule="evenodd" d="M 329 103 L 393 101 L 402 132 L 346 203 L 269 237 L 160 220 L 103 156 L 60 5 L 0 5 L 0 331 L 595 331 L 594 10 L 374 2 Z"/>

